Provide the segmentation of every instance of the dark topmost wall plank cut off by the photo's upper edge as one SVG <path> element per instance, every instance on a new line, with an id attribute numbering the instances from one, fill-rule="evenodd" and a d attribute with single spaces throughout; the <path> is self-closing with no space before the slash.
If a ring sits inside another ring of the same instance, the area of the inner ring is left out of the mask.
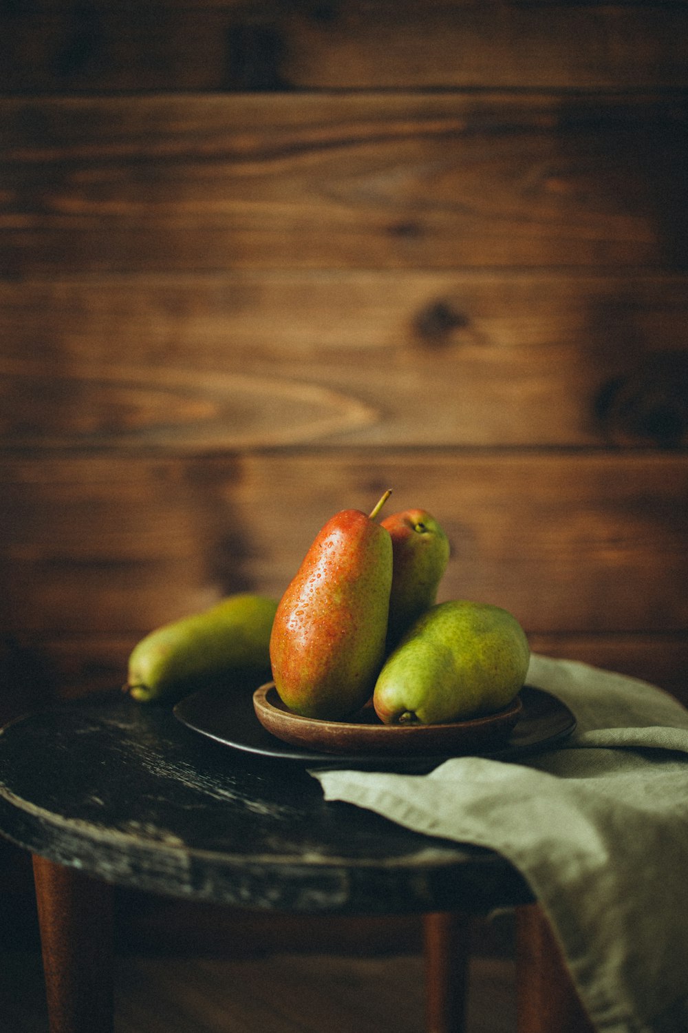
<path id="1" fill-rule="evenodd" d="M 2 88 L 41 92 L 685 87 L 686 39 L 680 3 L 34 0 L 0 14 Z"/>

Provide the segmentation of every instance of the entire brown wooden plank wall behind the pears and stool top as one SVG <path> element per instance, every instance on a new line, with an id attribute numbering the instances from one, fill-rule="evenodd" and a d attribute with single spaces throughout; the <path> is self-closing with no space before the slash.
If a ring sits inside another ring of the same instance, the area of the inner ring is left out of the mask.
<path id="1" fill-rule="evenodd" d="M 687 58 L 682 2 L 5 0 L 3 713 L 387 487 L 443 597 L 688 701 Z"/>

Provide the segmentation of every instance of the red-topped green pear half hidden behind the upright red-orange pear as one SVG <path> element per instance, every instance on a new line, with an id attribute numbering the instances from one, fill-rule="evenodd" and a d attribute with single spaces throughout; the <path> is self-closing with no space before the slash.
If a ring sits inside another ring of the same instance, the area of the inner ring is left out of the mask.
<path id="1" fill-rule="evenodd" d="M 425 509 L 405 509 L 381 521 L 392 536 L 392 591 L 387 650 L 437 599 L 449 563 L 449 538 Z"/>

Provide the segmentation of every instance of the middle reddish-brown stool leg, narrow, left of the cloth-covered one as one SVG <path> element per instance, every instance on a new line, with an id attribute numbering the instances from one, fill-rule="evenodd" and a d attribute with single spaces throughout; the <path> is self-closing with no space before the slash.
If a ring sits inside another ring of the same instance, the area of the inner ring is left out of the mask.
<path id="1" fill-rule="evenodd" d="M 470 919 L 441 911 L 423 916 L 428 1033 L 464 1033 Z"/>

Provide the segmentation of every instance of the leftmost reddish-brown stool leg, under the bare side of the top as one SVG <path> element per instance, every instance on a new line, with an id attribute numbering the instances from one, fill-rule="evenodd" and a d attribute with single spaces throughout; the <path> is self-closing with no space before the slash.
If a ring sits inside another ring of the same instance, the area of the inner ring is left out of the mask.
<path id="1" fill-rule="evenodd" d="M 51 1033 L 112 1031 L 112 889 L 33 858 Z"/>

